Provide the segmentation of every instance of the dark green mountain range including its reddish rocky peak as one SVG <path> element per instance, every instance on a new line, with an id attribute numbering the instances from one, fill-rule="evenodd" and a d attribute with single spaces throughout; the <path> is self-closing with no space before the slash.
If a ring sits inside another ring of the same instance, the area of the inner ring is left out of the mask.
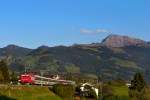
<path id="1" fill-rule="evenodd" d="M 102 43 L 41 46 L 34 50 L 7 46 L 0 49 L 0 54 L 13 55 L 15 60 L 9 60 L 9 68 L 17 72 L 26 67 L 30 71 L 92 74 L 107 80 L 129 80 L 134 73 L 142 72 L 150 82 L 149 43 L 127 36 L 110 35 Z"/>

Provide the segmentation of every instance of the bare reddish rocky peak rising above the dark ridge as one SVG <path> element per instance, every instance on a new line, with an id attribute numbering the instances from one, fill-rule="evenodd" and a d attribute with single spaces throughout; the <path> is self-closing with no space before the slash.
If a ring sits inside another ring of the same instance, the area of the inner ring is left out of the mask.
<path id="1" fill-rule="evenodd" d="M 131 45 L 144 45 L 146 42 L 128 36 L 109 35 L 102 41 L 102 44 L 108 47 L 124 47 Z"/>

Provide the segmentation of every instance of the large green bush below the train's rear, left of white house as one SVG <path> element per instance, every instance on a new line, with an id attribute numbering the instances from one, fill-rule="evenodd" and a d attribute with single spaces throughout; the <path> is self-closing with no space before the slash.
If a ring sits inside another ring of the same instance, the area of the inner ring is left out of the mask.
<path id="1" fill-rule="evenodd" d="M 53 87 L 53 91 L 65 100 L 73 100 L 75 88 L 72 85 L 56 84 Z"/>

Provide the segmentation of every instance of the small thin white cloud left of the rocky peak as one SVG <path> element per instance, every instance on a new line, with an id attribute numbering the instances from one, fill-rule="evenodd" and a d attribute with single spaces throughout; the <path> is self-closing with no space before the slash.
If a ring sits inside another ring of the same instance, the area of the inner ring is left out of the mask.
<path id="1" fill-rule="evenodd" d="M 111 33 L 111 32 L 109 30 L 100 29 L 100 28 L 95 29 L 95 30 L 82 28 L 82 29 L 80 29 L 80 33 L 83 33 L 83 34 L 100 34 L 100 33 Z"/>

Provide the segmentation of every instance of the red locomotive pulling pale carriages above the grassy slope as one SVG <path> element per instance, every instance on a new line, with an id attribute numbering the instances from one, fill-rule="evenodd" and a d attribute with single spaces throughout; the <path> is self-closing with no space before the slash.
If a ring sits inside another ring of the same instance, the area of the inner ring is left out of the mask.
<path id="1" fill-rule="evenodd" d="M 30 85 L 55 85 L 55 84 L 72 84 L 75 85 L 74 81 L 62 80 L 56 78 L 49 78 L 32 73 L 21 74 L 19 77 L 19 83 L 30 84 Z"/>

